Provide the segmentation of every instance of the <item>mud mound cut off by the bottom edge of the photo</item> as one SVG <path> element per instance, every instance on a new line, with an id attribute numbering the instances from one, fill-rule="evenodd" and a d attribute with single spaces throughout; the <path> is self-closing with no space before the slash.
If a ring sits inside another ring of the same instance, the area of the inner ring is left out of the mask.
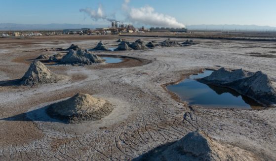
<path id="1" fill-rule="evenodd" d="M 252 161 L 254 155 L 228 144 L 220 144 L 207 134 L 190 132 L 180 140 L 154 149 L 140 161 Z"/>

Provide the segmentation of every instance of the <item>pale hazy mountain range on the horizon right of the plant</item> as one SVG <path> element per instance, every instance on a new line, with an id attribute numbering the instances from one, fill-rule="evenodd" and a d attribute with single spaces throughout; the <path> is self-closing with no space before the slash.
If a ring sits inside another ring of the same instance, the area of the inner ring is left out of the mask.
<path id="1" fill-rule="evenodd" d="M 188 30 L 219 30 L 219 31 L 276 31 L 276 27 L 257 25 L 189 25 Z"/>

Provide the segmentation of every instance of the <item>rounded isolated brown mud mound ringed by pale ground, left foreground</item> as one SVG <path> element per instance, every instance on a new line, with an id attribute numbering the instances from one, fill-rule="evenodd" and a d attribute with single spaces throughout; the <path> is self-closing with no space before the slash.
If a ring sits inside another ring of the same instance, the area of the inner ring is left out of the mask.
<path id="1" fill-rule="evenodd" d="M 67 123 L 100 120 L 109 115 L 113 106 L 102 98 L 94 98 L 88 94 L 77 94 L 66 100 L 48 106 L 47 114 Z"/>

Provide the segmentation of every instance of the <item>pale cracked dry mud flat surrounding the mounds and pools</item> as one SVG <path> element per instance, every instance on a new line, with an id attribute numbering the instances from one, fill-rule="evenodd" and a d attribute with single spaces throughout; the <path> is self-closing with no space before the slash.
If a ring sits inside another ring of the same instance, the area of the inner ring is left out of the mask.
<path id="1" fill-rule="evenodd" d="M 71 43 L 93 48 L 99 39 L 89 37 L 51 40 L 0 39 L 0 81 L 24 75 L 35 51 Z M 91 36 L 92 37 L 92 36 Z M 134 41 L 138 37 L 126 37 Z M 114 47 L 118 37 L 103 37 Z M 143 38 L 162 41 L 164 38 Z M 184 39 L 177 39 L 181 42 Z M 0 160 L 128 160 L 164 143 L 176 141 L 201 129 L 221 143 L 248 150 L 256 160 L 276 160 L 276 109 L 237 110 L 188 108 L 173 99 L 161 85 L 197 73 L 203 68 L 262 70 L 276 78 L 276 43 L 228 40 L 197 40 L 199 45 L 156 48 L 147 51 L 100 52 L 152 61 L 142 66 L 104 68 L 95 66 L 50 66 L 69 78 L 39 87 L 0 87 Z M 31 51 L 31 52 L 22 52 Z M 270 53 L 254 57 L 247 53 Z M 115 109 L 100 121 L 68 125 L 50 119 L 46 105 L 88 93 L 109 100 Z"/>

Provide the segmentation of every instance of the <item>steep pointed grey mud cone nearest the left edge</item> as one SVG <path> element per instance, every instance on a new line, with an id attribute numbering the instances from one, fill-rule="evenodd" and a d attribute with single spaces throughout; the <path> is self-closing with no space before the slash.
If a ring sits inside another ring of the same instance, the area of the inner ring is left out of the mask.
<path id="1" fill-rule="evenodd" d="M 56 83 L 65 76 L 52 73 L 44 64 L 39 61 L 31 63 L 28 71 L 22 77 L 20 84 L 34 86 L 45 83 Z"/>

